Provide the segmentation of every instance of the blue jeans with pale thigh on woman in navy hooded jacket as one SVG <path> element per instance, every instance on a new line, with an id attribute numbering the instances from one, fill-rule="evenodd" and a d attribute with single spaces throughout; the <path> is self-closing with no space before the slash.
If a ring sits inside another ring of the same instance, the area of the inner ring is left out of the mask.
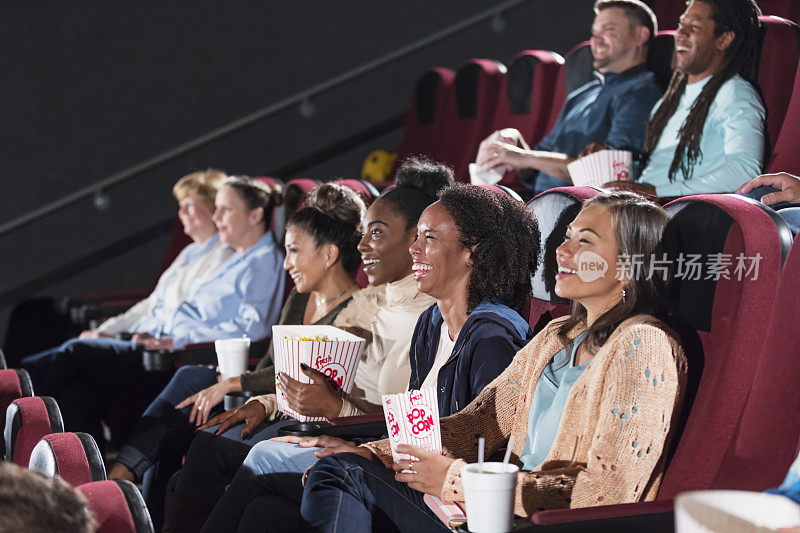
<path id="1" fill-rule="evenodd" d="M 271 530 L 275 524 L 286 531 L 301 529 L 300 476 L 317 462 L 314 453 L 320 449 L 273 441 L 253 446 L 203 530 L 252 531 L 255 524 L 272 524 Z M 279 502 L 272 505 L 270 500 L 276 497 Z M 283 505 L 287 498 L 294 503 Z M 276 516 L 276 508 L 285 512 Z"/>

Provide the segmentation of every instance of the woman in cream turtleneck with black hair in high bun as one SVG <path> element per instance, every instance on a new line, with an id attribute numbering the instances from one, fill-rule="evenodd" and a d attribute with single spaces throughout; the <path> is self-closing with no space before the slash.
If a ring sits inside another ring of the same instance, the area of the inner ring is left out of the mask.
<path id="1" fill-rule="evenodd" d="M 446 166 L 411 158 L 400 166 L 394 186 L 367 210 L 358 249 L 369 286 L 353 296 L 334 323 L 368 340 L 354 389 L 342 396 L 283 377 L 282 386 L 299 412 L 327 418 L 380 412 L 382 394 L 405 390 L 414 325 L 434 303 L 417 289 L 408 248 L 416 238 L 420 214 L 452 183 Z M 274 396 L 258 400 L 210 420 L 208 427 L 220 424 L 218 435 L 200 432 L 195 437 L 176 490 L 167 496 L 167 524 L 175 528 L 168 530 L 199 529 L 250 448 L 277 434 L 278 426 L 263 424 L 274 416 Z M 244 426 L 235 426 L 240 422 Z M 249 438 L 242 440 L 245 435 Z"/>

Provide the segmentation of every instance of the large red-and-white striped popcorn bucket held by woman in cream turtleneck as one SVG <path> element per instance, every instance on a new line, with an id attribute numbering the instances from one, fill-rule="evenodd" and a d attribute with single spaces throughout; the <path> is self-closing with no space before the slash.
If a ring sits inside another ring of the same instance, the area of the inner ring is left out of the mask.
<path id="1" fill-rule="evenodd" d="M 272 344 L 276 375 L 281 372 L 301 383 L 311 383 L 311 378 L 300 369 L 300 363 L 305 363 L 349 393 L 353 390 L 356 368 L 366 341 L 333 326 L 272 326 Z M 300 422 L 325 420 L 291 409 L 280 383 L 276 385 L 278 409 L 282 412 Z"/>

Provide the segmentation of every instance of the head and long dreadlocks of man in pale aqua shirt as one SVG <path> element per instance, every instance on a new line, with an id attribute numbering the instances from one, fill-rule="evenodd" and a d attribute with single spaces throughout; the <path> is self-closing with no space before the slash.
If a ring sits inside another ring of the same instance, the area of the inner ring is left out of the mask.
<path id="1" fill-rule="evenodd" d="M 702 158 L 700 140 L 709 108 L 720 87 L 739 74 L 752 82 L 758 60 L 758 17 L 754 0 L 692 0 L 675 33 L 675 72 L 658 109 L 647 124 L 644 153 L 652 153 L 664 127 L 678 109 L 686 85 L 709 78 L 680 130 L 669 179 L 691 178 Z"/>

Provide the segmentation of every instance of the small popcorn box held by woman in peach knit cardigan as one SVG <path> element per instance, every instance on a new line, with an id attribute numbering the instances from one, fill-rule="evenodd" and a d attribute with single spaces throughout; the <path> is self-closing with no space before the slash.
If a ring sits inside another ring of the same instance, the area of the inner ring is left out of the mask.
<path id="1" fill-rule="evenodd" d="M 431 452 L 442 453 L 442 431 L 439 427 L 439 404 L 436 389 L 408 391 L 382 396 L 383 415 L 389 431 L 392 458 L 409 459 L 397 453 L 398 444 L 409 444 Z"/>

